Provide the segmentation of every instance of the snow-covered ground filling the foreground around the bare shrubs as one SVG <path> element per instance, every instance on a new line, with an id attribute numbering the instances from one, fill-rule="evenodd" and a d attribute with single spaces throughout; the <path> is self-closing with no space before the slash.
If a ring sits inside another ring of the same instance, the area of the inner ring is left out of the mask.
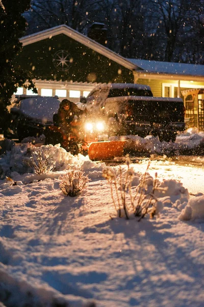
<path id="1" fill-rule="evenodd" d="M 191 131 L 175 144 L 138 140 L 152 155 L 179 155 L 184 148 L 198 148 L 203 135 Z M 117 216 L 111 185 L 103 177 L 105 163 L 73 157 L 59 146 L 39 148 L 49 150 L 55 171 L 31 172 L 36 150 L 31 143 L 11 146 L 0 157 L 0 305 L 203 306 L 204 168 L 178 166 L 165 156 L 130 164 L 132 196 L 142 183 L 145 193 L 152 191 L 157 177 L 156 215 L 138 222 L 128 189 L 130 219 Z M 81 169 L 89 179 L 75 197 L 60 188 L 68 168 Z M 125 163 L 109 168 L 119 195 L 127 168 Z"/>

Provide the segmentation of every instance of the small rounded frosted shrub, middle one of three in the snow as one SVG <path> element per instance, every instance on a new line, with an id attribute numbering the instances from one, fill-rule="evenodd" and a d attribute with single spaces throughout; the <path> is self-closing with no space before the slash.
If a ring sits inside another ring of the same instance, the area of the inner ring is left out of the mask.
<path id="1" fill-rule="evenodd" d="M 88 184 L 88 176 L 84 176 L 81 169 L 68 169 L 66 174 L 61 178 L 60 188 L 66 196 L 77 196 Z"/>

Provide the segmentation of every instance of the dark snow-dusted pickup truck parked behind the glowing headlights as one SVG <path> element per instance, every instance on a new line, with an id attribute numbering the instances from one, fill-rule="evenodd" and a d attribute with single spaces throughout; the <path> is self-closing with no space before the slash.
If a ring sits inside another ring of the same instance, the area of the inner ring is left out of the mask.
<path id="1" fill-rule="evenodd" d="M 109 135 L 154 135 L 174 142 L 177 131 L 185 130 L 183 100 L 153 97 L 147 85 L 103 84 L 91 91 L 86 103 L 90 117 L 107 121 Z"/>

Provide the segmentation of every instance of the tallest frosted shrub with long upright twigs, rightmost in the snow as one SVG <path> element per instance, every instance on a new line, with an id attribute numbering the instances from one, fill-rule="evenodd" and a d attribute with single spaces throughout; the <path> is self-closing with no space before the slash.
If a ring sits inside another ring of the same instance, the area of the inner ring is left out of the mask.
<path id="1" fill-rule="evenodd" d="M 162 188 L 158 187 L 157 173 L 155 179 L 153 179 L 147 173 L 149 164 L 144 174 L 142 174 L 140 181 L 136 187 L 132 187 L 134 178 L 134 170 L 130 168 L 129 159 L 126 161 L 127 171 L 124 176 L 120 167 L 120 173 L 117 175 L 114 170 L 107 167 L 103 170 L 103 177 L 108 180 L 111 187 L 111 197 L 118 216 L 124 215 L 127 219 L 130 215 L 138 217 L 138 221 L 141 220 L 147 213 L 150 218 L 155 215 L 159 216 L 159 213 L 163 209 L 163 204 L 160 202 L 155 192 Z M 114 194 L 115 191 L 115 194 Z M 127 201 L 128 198 L 128 201 Z"/>

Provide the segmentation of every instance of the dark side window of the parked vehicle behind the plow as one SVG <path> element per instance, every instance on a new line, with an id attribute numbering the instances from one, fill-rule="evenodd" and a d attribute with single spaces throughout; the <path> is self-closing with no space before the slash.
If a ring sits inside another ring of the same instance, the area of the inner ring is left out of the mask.
<path id="1" fill-rule="evenodd" d="M 111 97 L 121 97 L 121 96 L 148 96 L 152 97 L 151 91 L 140 90 L 134 88 L 125 88 L 125 89 L 111 89 L 108 95 L 108 98 Z"/>

